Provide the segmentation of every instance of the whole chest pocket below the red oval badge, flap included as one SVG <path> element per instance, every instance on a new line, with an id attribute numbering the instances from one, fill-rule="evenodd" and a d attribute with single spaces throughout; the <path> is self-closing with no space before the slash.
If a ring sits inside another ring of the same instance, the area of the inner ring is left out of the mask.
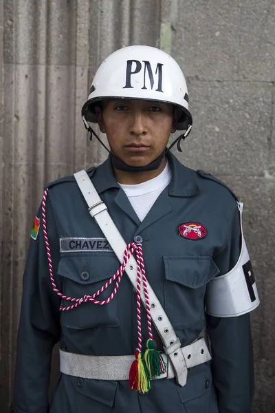
<path id="1" fill-rule="evenodd" d="M 206 284 L 219 274 L 212 257 L 164 257 L 164 306 L 175 329 L 195 328 L 204 319 Z"/>

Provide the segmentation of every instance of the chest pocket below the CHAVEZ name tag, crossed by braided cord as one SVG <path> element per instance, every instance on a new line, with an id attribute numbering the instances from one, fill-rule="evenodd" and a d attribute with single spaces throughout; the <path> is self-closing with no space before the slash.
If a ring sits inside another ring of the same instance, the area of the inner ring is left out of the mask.
<path id="1" fill-rule="evenodd" d="M 109 255 L 89 257 L 62 257 L 57 273 L 62 277 L 63 294 L 80 298 L 93 295 L 118 270 L 120 264 L 116 257 Z M 98 301 L 107 299 L 113 292 L 115 282 L 98 296 Z M 118 290 L 119 293 L 119 290 Z M 70 306 L 72 301 L 63 299 L 63 306 Z M 61 323 L 77 330 L 98 326 L 119 326 L 117 295 L 108 304 L 98 305 L 91 301 L 61 314 Z"/>

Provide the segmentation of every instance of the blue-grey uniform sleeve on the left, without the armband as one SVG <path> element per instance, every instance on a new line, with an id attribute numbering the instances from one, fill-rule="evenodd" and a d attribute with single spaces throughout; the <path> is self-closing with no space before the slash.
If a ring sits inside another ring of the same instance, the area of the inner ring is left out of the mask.
<path id="1" fill-rule="evenodd" d="M 54 213 L 46 203 L 47 235 L 54 274 L 59 261 L 58 234 Z M 60 298 L 52 288 L 43 236 L 41 208 L 39 233 L 30 240 L 23 275 L 23 297 L 17 336 L 17 360 L 14 371 L 14 413 L 47 413 L 52 348 L 60 337 Z M 58 284 L 56 283 L 58 286 Z M 60 288 L 60 286 L 58 286 Z"/>

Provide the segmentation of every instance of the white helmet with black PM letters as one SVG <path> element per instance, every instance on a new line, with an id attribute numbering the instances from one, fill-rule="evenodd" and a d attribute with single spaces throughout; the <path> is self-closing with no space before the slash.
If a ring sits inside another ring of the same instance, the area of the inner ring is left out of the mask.
<path id="1" fill-rule="evenodd" d="M 184 74 L 169 54 L 156 47 L 128 46 L 110 54 L 91 83 L 82 108 L 83 120 L 96 123 L 95 103 L 106 98 L 172 103 L 182 110 L 177 129 L 186 130 L 184 137 L 192 127 Z"/>

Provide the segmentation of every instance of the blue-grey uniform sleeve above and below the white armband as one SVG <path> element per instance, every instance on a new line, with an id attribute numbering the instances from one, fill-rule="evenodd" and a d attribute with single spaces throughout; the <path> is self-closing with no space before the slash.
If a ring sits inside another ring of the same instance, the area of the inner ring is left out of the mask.
<path id="1" fill-rule="evenodd" d="M 234 267 L 240 250 L 241 227 L 236 208 L 228 231 L 228 245 L 214 258 L 221 275 Z M 250 314 L 230 318 L 206 317 L 219 413 L 251 413 L 254 366 Z"/>

